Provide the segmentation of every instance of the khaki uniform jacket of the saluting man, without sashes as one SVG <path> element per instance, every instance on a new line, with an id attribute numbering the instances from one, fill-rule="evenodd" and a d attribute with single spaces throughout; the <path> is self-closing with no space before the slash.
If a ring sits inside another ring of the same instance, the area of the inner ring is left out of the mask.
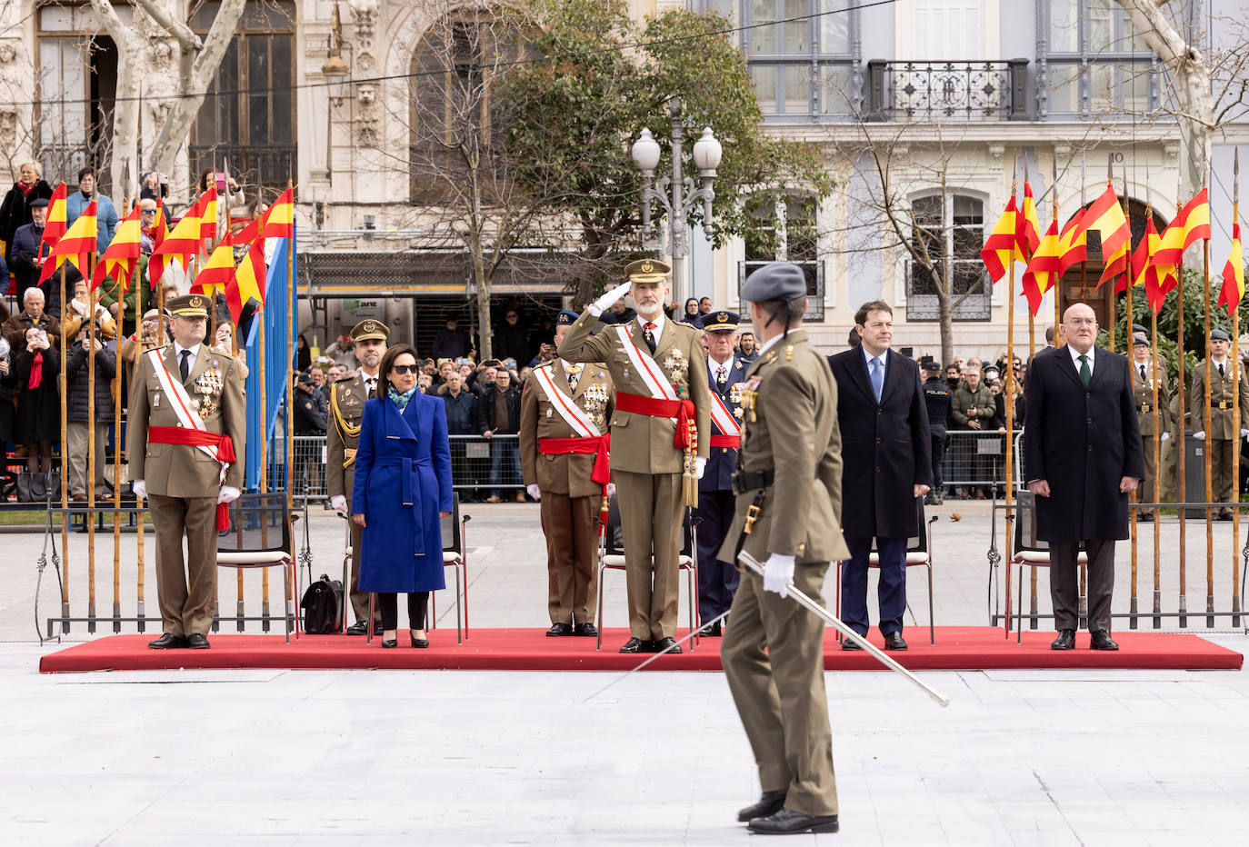
<path id="1" fill-rule="evenodd" d="M 641 320 L 641 319 L 638 319 Z M 681 400 L 694 404 L 698 428 L 698 455 L 709 455 L 711 397 L 707 395 L 707 355 L 702 337 L 689 324 L 671 319 L 656 340 L 654 356 L 646 346 L 638 320 L 626 327 L 632 337 L 621 339 L 616 326 L 603 327 L 588 311 L 583 312 L 560 345 L 560 356 L 570 362 L 603 362 L 616 391 L 646 397 L 651 391 L 624 350 L 626 344 L 638 349 L 638 355 L 651 357 L 659 374 L 667 379 Z M 597 331 L 596 335 L 591 335 Z M 684 451 L 673 443 L 676 423 L 669 417 L 634 415 L 618 409 L 612 412 L 612 470 L 631 473 L 681 473 Z"/>

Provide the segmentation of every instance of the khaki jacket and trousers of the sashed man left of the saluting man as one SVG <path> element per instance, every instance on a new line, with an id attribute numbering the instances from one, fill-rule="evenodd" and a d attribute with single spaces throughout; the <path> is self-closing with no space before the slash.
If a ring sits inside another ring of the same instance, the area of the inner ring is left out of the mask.
<path id="1" fill-rule="evenodd" d="M 542 366 L 556 387 L 568 395 L 600 432 L 612 414 L 612 377 L 606 366 L 581 366 L 577 387 L 568 389 L 563 362 Z M 590 478 L 595 453 L 562 456 L 538 452 L 543 438 L 581 437 L 556 411 L 535 376 L 521 394 L 521 472 L 525 485 L 537 485 L 542 532 L 547 540 L 547 612 L 552 623 L 593 623 L 598 586 L 598 526 L 603 486 Z"/>

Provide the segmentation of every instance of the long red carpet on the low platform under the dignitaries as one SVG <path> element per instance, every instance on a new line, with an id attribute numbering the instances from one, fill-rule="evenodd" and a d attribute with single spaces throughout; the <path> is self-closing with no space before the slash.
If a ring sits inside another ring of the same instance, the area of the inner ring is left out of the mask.
<path id="1" fill-rule="evenodd" d="M 159 633 L 156 633 L 159 635 Z M 406 637 L 406 633 L 402 633 Z M 678 632 L 678 636 L 683 635 Z M 846 652 L 828 630 L 824 667 L 831 671 L 876 671 L 881 665 L 862 652 Z M 72 671 L 130 671 L 172 668 L 430 668 L 481 671 L 627 671 L 646 656 L 616 652 L 626 641 L 624 630 L 608 630 L 603 650 L 595 651 L 593 638 L 547 638 L 545 630 L 473 630 L 462 645 L 455 630 L 431 633 L 427 650 L 412 650 L 401 642 L 397 650 L 382 650 L 378 638 L 366 646 L 363 637 L 302 636 L 287 645 L 281 635 L 210 636 L 211 650 L 149 650 L 154 635 L 117 635 L 96 638 L 44 656 L 44 673 Z M 1240 670 L 1244 657 L 1195 635 L 1115 632 L 1119 652 L 1088 648 L 1088 633 L 1077 636 L 1077 650 L 1052 651 L 1053 632 L 1025 632 L 1023 643 L 1014 635 L 990 627 L 938 627 L 937 645 L 928 643 L 928 631 L 907 632 L 911 650 L 893 656 L 911 670 L 968 671 L 1000 668 L 1160 668 Z M 871 640 L 882 645 L 873 632 Z M 718 671 L 719 638 L 702 638 L 681 656 L 662 656 L 647 666 L 656 671 Z"/>

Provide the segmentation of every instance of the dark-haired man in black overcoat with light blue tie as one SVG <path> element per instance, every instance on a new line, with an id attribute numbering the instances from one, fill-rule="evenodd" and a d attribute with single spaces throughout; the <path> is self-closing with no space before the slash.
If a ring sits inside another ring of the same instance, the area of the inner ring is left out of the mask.
<path id="1" fill-rule="evenodd" d="M 906 650 L 907 538 L 918 526 L 916 498 L 932 487 L 928 411 L 916 364 L 889 350 L 893 310 L 874 300 L 854 315 L 859 345 L 828 357 L 842 430 L 842 618 L 867 635 L 872 538 L 881 562 L 877 602 L 886 650 Z M 861 650 L 847 638 L 843 650 Z"/>

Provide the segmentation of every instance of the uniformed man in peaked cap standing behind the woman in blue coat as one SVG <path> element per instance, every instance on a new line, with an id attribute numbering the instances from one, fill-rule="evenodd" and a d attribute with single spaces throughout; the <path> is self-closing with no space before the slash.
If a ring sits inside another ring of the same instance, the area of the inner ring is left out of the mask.
<path id="1" fill-rule="evenodd" d="M 326 427 L 325 472 L 330 505 L 347 513 L 355 480 L 356 443 L 360 441 L 360 420 L 365 416 L 365 401 L 377 394 L 377 369 L 386 352 L 390 329 L 381 321 L 360 321 L 351 330 L 355 340 L 356 375 L 338 380 L 330 386 L 330 423 Z M 351 608 L 356 622 L 347 627 L 348 635 L 368 631 L 368 592 L 360 590 L 360 533 L 351 523 Z M 373 635 L 382 633 L 380 620 L 373 621 Z"/>

